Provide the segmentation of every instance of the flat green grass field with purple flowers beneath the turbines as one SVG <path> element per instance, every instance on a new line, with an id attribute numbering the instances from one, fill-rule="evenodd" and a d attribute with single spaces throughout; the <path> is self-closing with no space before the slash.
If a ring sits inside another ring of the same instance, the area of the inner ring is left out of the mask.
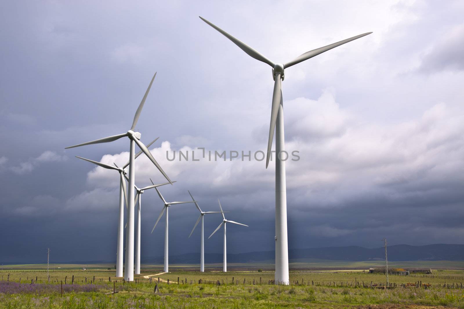
<path id="1" fill-rule="evenodd" d="M 138 282 L 127 283 L 114 278 L 115 271 L 105 266 L 109 265 L 55 265 L 55 270 L 50 270 L 50 283 L 46 265 L 45 269 L 43 265 L 3 266 L 0 308 L 464 308 L 464 289 L 460 288 L 464 270 L 432 270 L 432 275 L 420 277 L 390 275 L 390 283 L 421 281 L 431 287 L 378 289 L 371 288 L 371 282 L 385 283 L 385 276 L 361 270 L 290 271 L 292 284 L 276 286 L 269 284 L 273 271 L 256 269 L 200 273 L 186 266 L 153 276 L 150 283 L 144 276 L 162 269 L 150 267 L 135 277 Z M 155 293 L 158 277 L 159 292 Z M 205 284 L 206 280 L 219 281 L 220 285 Z M 111 294 L 113 289 L 116 294 Z"/>

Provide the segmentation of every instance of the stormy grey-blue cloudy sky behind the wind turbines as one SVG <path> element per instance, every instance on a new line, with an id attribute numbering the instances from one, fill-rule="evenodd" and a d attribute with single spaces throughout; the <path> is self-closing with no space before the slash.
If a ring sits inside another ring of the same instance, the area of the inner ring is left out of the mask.
<path id="1" fill-rule="evenodd" d="M 373 34 L 285 70 L 289 247 L 464 243 L 462 1 L 4 1 L 0 4 L 0 262 L 115 260 L 118 174 L 136 129 L 188 200 L 250 227 L 228 227 L 228 252 L 274 248 L 274 164 L 265 151 L 271 68 L 209 19 L 275 62 Z M 226 161 L 201 158 L 226 151 Z M 176 160 L 168 161 L 166 151 Z M 179 162 L 178 151 L 189 151 Z M 258 156 L 260 159 L 260 156 Z M 145 156 L 139 187 L 163 182 Z M 142 195 L 142 256 L 162 255 L 156 192 Z M 198 211 L 170 208 L 171 254 L 199 252 Z M 219 215 L 205 218 L 208 236 Z M 206 252 L 222 252 L 220 233 Z M 207 261 L 206 261 L 207 262 Z"/>

